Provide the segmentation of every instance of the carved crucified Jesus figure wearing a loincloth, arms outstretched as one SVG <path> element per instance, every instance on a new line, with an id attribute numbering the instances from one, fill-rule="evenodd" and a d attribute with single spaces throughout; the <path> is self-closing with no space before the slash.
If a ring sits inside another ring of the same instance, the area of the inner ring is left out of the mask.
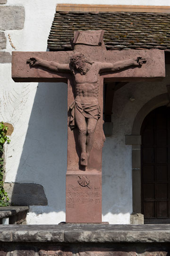
<path id="1" fill-rule="evenodd" d="M 74 53 L 69 64 L 32 57 L 31 67 L 44 67 L 53 72 L 72 72 L 76 91 L 75 101 L 70 106 L 70 126 L 79 129 L 79 145 L 81 149 L 80 164 L 87 165 L 93 146 L 94 131 L 100 118 L 98 103 L 99 76 L 102 72 L 117 72 L 134 66 L 140 67 L 146 60 L 142 57 L 112 63 L 92 62 L 82 53 Z"/>

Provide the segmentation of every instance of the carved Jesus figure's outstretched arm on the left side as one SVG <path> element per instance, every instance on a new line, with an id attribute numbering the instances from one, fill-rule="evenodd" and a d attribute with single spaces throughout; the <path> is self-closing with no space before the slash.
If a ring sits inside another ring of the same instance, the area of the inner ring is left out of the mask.
<path id="1" fill-rule="evenodd" d="M 54 72 L 68 72 L 70 71 L 69 64 L 59 64 L 54 61 L 42 60 L 38 57 L 31 57 L 27 60 L 30 67 L 44 67 Z"/>

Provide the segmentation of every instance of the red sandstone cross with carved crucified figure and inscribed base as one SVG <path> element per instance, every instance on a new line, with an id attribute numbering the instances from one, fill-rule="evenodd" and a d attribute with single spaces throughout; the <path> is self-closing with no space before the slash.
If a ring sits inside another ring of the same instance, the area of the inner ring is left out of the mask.
<path id="1" fill-rule="evenodd" d="M 162 51 L 106 51 L 102 37 L 102 30 L 81 31 L 72 42 L 75 52 L 12 54 L 15 82 L 68 82 L 67 223 L 102 222 L 103 79 L 153 81 L 165 76 Z"/>

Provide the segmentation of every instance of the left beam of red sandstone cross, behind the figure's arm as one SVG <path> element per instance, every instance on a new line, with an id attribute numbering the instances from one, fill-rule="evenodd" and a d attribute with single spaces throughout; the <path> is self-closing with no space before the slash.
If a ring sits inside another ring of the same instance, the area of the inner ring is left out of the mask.
<path id="1" fill-rule="evenodd" d="M 59 67 L 68 67 L 70 62 L 70 52 L 12 52 L 12 79 L 15 82 L 67 82 L 71 78 L 70 71 L 63 72 L 57 68 L 56 71 L 50 71 L 45 64 L 42 67 L 30 67 L 27 60 L 31 57 L 51 64 L 58 63 Z"/>

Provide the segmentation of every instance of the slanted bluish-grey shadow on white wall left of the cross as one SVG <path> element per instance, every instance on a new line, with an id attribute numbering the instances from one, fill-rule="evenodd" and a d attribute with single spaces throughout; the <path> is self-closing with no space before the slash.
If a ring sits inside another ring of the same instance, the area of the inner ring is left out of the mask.
<path id="1" fill-rule="evenodd" d="M 65 211 L 66 170 L 67 84 L 41 82 L 34 98 L 11 203 L 48 203 L 54 211 Z"/>

